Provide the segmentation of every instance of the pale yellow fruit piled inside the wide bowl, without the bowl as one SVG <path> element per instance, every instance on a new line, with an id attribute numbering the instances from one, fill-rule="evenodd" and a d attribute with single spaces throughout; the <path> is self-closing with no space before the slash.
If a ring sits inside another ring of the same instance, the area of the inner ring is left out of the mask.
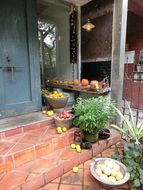
<path id="1" fill-rule="evenodd" d="M 101 179 L 108 182 L 116 182 L 123 178 L 120 166 L 112 160 L 97 164 L 95 171 Z"/>

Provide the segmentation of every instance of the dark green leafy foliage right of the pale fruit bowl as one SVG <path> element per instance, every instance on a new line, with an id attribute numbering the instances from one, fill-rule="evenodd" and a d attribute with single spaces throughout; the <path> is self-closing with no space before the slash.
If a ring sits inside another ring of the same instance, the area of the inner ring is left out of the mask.
<path id="1" fill-rule="evenodd" d="M 141 159 L 143 156 L 143 145 L 128 144 L 124 148 L 123 154 L 114 157 L 122 161 L 130 173 L 130 181 L 132 187 L 143 186 L 143 169 L 141 166 Z"/>

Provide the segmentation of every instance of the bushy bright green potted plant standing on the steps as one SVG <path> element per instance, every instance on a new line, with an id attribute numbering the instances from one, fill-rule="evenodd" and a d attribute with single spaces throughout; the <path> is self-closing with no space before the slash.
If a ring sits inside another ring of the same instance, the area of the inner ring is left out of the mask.
<path id="1" fill-rule="evenodd" d="M 106 96 L 78 98 L 74 105 L 73 124 L 83 131 L 87 141 L 95 142 L 101 129 L 115 116 L 114 102 Z"/>

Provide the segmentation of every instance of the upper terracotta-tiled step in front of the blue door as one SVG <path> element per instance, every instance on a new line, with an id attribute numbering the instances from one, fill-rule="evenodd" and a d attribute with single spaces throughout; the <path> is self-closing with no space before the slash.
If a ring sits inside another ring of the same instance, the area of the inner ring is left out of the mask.
<path id="1" fill-rule="evenodd" d="M 0 140 L 0 174 L 69 145 L 74 130 L 59 135 L 52 119 L 28 124 L 20 133 L 5 132 Z"/>

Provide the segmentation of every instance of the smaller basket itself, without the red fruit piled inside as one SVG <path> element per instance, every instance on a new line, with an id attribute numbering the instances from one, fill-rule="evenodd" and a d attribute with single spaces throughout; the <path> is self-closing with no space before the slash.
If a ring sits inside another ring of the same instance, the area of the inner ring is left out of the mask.
<path id="1" fill-rule="evenodd" d="M 66 127 L 66 128 L 71 128 L 72 127 L 72 122 L 74 119 L 74 115 L 72 115 L 71 118 L 69 119 L 59 119 L 57 116 L 54 117 L 56 127 Z"/>

